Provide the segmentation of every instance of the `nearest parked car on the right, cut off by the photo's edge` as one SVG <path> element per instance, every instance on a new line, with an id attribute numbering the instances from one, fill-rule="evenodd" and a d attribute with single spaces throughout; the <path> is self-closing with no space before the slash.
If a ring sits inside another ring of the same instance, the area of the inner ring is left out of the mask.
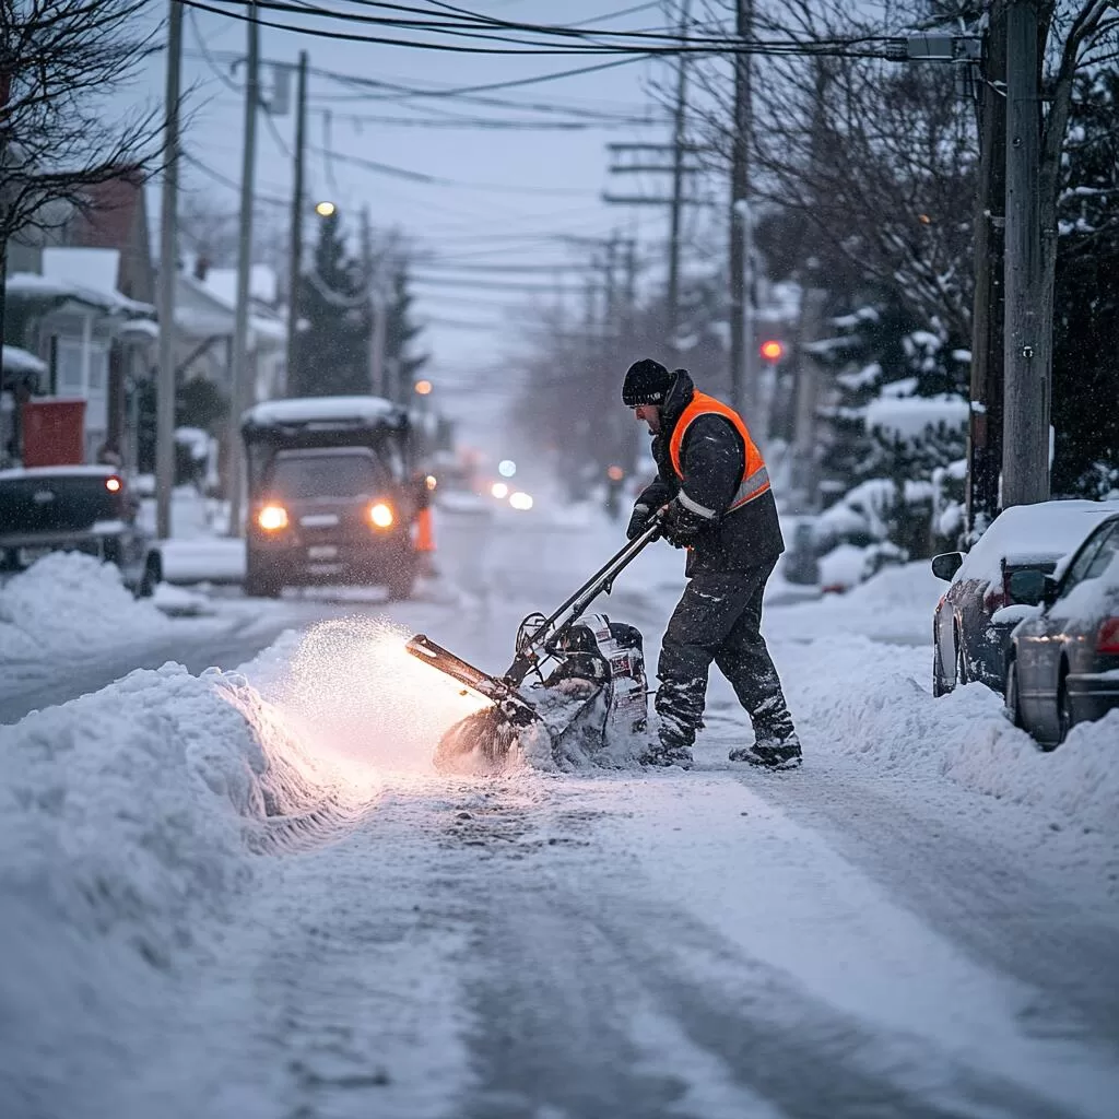
<path id="1" fill-rule="evenodd" d="M 1080 546 L 1060 579 L 1023 571 L 1019 602 L 1041 610 L 1010 639 L 1006 708 L 1040 743 L 1119 707 L 1119 514 Z"/>

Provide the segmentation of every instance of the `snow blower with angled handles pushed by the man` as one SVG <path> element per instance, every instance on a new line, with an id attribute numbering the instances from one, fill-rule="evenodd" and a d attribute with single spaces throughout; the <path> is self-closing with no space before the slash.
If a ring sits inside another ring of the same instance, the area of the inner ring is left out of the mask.
<path id="1" fill-rule="evenodd" d="M 442 736 L 435 764 L 454 772 L 500 772 L 517 756 L 570 769 L 600 759 L 612 737 L 645 730 L 645 653 L 633 626 L 605 614 L 584 617 L 609 594 L 618 575 L 661 532 L 661 511 L 549 615 L 528 614 L 517 630 L 516 655 L 502 676 L 490 676 L 423 633 L 407 650 L 472 692 L 488 707 Z M 528 681 L 528 683 L 526 683 Z"/>

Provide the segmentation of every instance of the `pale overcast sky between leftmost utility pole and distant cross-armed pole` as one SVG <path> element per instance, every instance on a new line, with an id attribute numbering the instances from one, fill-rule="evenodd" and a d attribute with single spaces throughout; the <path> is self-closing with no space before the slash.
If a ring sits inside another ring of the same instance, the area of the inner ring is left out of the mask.
<path id="1" fill-rule="evenodd" d="M 370 12 L 369 8 L 347 7 L 345 0 L 330 0 L 325 7 Z M 529 22 L 565 22 L 615 29 L 662 28 L 668 22 L 667 3 L 650 4 L 619 18 L 602 20 L 611 12 L 637 7 L 636 0 L 469 0 L 463 7 L 502 18 Z M 160 9 L 157 7 L 157 11 Z M 236 10 L 236 9 L 235 9 Z M 243 9 L 241 9 L 243 10 Z M 377 15 L 384 12 L 376 11 Z M 298 22 L 299 17 L 266 12 L 265 19 Z M 322 26 L 321 23 L 317 26 Z M 347 28 L 350 25 L 346 25 Z M 361 34 L 397 38 L 422 36 L 398 29 L 352 28 Z M 206 163 L 223 185 L 197 167 L 186 164 L 185 189 L 208 201 L 237 209 L 236 184 L 241 179 L 243 129 L 243 68 L 232 68 L 246 47 L 247 26 L 227 17 L 187 10 L 185 20 L 184 87 L 189 97 L 190 124 L 185 135 L 188 153 Z M 445 40 L 444 40 L 445 41 Z M 468 40 L 451 40 L 463 43 Z M 210 60 L 203 57 L 203 51 Z M 459 87 L 504 82 L 538 74 L 594 65 L 600 57 L 580 55 L 514 58 L 495 55 L 467 55 L 387 45 L 345 43 L 312 38 L 264 28 L 261 35 L 262 58 L 266 62 L 295 63 L 300 49 L 310 56 L 312 70 L 337 72 L 361 78 L 422 88 Z M 223 77 L 215 73 L 213 62 Z M 474 105 L 460 101 L 420 100 L 374 90 L 356 90 L 323 75 L 309 82 L 310 114 L 308 140 L 309 203 L 329 198 L 357 231 L 363 206 L 379 226 L 398 226 L 416 246 L 429 250 L 450 263 L 524 263 L 581 265 L 585 247 L 573 248 L 556 239 L 556 234 L 602 236 L 619 228 L 649 238 L 662 237 L 665 213 L 657 208 L 610 206 L 601 200 L 608 187 L 614 191 L 636 184 L 609 182 L 606 173 L 609 141 L 669 139 L 667 124 L 602 128 L 598 122 L 580 131 L 499 131 L 493 129 L 450 129 L 402 126 L 370 116 L 449 119 L 459 115 L 472 120 L 548 121 L 572 117 L 566 113 L 545 113 L 525 107 L 525 103 L 573 109 L 581 113 L 631 114 L 656 119 L 661 111 L 650 92 L 650 83 L 670 76 L 669 64 L 631 62 L 595 74 L 581 75 L 538 85 L 526 85 L 486 94 L 521 107 Z M 163 64 L 151 67 L 139 88 L 130 96 L 158 103 L 162 100 Z M 269 66 L 262 70 L 267 93 L 273 81 Z M 294 93 L 294 90 L 292 90 Z M 386 95 L 387 93 L 387 95 Z M 329 114 L 329 117 L 328 117 Z M 363 120 L 361 117 L 366 117 Z M 294 137 L 291 115 L 274 120 L 275 132 L 262 117 L 257 125 L 256 188 L 261 198 L 284 199 L 291 191 L 290 150 Z M 337 159 L 323 154 L 331 149 Z M 421 184 L 377 173 L 346 161 L 364 158 L 403 169 L 434 176 L 440 184 Z M 653 184 L 648 181 L 646 187 Z M 151 198 L 153 226 L 158 223 L 158 191 Z M 279 206 L 269 210 L 267 224 L 285 229 L 288 216 Z M 305 226 L 308 243 L 313 241 L 313 215 Z M 154 236 L 153 228 L 153 236 Z M 356 241 L 354 242 L 356 247 Z M 451 270 L 448 270 L 449 272 Z M 547 299 L 551 294 L 525 295 L 485 289 L 479 283 L 555 284 L 557 274 L 449 275 L 445 284 L 416 283 L 416 317 L 431 322 L 425 346 L 432 351 L 431 376 L 448 389 L 464 382 L 477 384 L 480 369 L 492 368 L 501 355 L 515 349 L 510 338 L 515 308 L 525 298 Z M 577 271 L 570 272 L 565 284 L 579 284 Z M 571 299 L 572 309 L 579 305 Z M 470 329 L 478 325 L 488 329 Z"/>

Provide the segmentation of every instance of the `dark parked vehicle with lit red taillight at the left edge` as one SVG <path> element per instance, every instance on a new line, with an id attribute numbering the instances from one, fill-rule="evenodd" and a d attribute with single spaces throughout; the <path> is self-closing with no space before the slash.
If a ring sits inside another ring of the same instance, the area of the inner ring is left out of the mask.
<path id="1" fill-rule="evenodd" d="M 116 564 L 138 595 L 151 594 L 158 563 L 138 510 L 114 467 L 0 470 L 0 568 L 15 573 L 48 552 L 84 552 Z"/>

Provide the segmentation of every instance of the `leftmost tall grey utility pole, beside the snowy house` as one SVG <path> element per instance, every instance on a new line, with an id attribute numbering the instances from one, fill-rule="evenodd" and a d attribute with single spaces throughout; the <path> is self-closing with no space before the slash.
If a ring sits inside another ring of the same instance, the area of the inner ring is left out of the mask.
<path id="1" fill-rule="evenodd" d="M 159 378 L 156 385 L 156 532 L 161 540 L 171 535 L 171 491 L 175 488 L 175 280 L 178 271 L 176 226 L 181 73 L 182 3 L 170 0 L 163 96 L 163 186 L 159 218 Z"/>

